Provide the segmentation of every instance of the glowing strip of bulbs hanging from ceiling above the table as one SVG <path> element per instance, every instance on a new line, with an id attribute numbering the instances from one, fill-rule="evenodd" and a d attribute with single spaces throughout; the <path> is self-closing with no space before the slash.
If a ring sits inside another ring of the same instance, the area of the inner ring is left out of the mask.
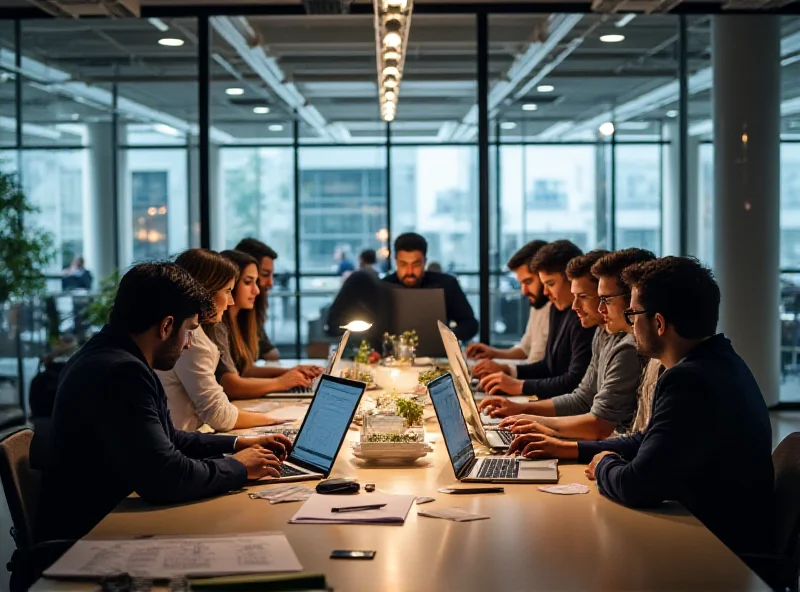
<path id="1" fill-rule="evenodd" d="M 384 121 L 393 121 L 397 114 L 414 2 L 372 0 L 372 4 L 375 7 L 375 61 L 381 117 Z"/>

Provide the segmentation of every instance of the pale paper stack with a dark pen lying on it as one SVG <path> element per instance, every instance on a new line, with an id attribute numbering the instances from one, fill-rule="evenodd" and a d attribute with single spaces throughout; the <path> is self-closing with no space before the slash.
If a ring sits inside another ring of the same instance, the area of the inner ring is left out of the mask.
<path id="1" fill-rule="evenodd" d="M 403 524 L 413 495 L 365 493 L 359 495 L 312 495 L 289 521 L 292 524 Z M 333 512 L 333 508 L 386 504 L 376 510 Z"/>

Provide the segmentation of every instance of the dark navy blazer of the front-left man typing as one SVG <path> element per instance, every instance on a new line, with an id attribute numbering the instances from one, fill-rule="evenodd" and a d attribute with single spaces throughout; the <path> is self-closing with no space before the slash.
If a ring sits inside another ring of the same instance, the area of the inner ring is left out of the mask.
<path id="1" fill-rule="evenodd" d="M 133 492 L 170 504 L 240 489 L 245 466 L 211 458 L 235 441 L 175 430 L 161 381 L 133 340 L 106 326 L 61 373 L 36 539 L 80 538 Z"/>

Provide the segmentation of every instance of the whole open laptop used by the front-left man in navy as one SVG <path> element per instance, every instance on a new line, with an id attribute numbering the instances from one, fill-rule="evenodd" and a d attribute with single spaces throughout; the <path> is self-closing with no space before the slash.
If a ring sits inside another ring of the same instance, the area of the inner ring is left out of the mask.
<path id="1" fill-rule="evenodd" d="M 281 477 L 270 483 L 327 478 L 366 388 L 363 382 L 322 375 Z"/>

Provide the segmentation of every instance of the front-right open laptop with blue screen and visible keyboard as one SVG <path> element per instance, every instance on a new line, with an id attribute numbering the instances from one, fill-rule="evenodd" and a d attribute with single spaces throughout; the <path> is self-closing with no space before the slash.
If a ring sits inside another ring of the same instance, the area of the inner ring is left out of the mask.
<path id="1" fill-rule="evenodd" d="M 558 483 L 558 461 L 555 459 L 475 456 L 452 375 L 445 374 L 431 381 L 428 392 L 442 428 L 456 479 L 464 482 Z"/>

